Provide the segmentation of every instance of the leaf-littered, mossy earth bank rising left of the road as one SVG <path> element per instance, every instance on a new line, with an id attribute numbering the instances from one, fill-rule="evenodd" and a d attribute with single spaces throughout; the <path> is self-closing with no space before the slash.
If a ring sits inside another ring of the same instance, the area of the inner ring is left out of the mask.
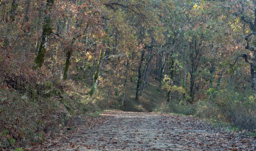
<path id="1" fill-rule="evenodd" d="M 5 62 L 0 69 L 0 150 L 19 150 L 55 137 L 88 107 L 70 82 L 49 70 L 32 70 L 25 62 Z M 25 70 L 26 69 L 26 70 Z M 66 90 L 70 89 L 70 91 Z"/>

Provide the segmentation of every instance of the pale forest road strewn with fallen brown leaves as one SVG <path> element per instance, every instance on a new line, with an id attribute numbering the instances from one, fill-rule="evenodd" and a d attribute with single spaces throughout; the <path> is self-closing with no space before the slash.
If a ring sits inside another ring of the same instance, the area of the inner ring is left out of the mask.
<path id="1" fill-rule="evenodd" d="M 105 111 L 32 150 L 256 151 L 256 136 L 214 128 L 191 116 Z"/>

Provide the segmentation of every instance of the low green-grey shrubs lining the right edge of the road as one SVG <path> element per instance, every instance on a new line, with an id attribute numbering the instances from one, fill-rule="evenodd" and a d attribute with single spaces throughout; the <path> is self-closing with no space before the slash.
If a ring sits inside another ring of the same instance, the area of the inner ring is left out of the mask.
<path id="1" fill-rule="evenodd" d="M 234 90 L 208 91 L 209 99 L 197 103 L 196 115 L 225 119 L 237 128 L 256 130 L 256 96 Z"/>

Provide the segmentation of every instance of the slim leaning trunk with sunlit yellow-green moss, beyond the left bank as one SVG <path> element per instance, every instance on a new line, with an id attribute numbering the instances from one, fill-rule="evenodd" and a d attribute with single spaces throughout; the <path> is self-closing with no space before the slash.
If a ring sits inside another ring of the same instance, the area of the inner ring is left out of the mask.
<path id="1" fill-rule="evenodd" d="M 90 96 L 93 97 L 93 95 L 95 94 L 96 90 L 97 90 L 97 84 L 98 84 L 98 78 L 99 78 L 99 68 L 100 68 L 100 64 L 101 64 L 101 60 L 104 56 L 104 49 L 101 49 L 100 54 L 99 54 L 99 61 L 97 64 L 97 69 L 96 72 L 94 74 L 94 78 L 93 78 L 93 85 L 92 85 L 92 89 L 90 90 Z"/>

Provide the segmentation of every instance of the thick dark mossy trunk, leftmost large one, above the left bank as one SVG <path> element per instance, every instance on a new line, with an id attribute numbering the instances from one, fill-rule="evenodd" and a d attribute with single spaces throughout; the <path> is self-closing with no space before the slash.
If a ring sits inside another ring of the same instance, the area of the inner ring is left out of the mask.
<path id="1" fill-rule="evenodd" d="M 51 25 L 51 15 L 50 10 L 52 8 L 52 5 L 54 3 L 54 0 L 47 0 L 47 8 L 44 12 L 44 23 L 43 23 L 43 33 L 42 33 L 42 40 L 41 44 L 38 48 L 38 55 L 35 58 L 35 69 L 41 68 L 44 64 L 44 58 L 47 52 L 47 46 L 49 42 L 49 36 L 52 32 L 52 25 Z"/>

